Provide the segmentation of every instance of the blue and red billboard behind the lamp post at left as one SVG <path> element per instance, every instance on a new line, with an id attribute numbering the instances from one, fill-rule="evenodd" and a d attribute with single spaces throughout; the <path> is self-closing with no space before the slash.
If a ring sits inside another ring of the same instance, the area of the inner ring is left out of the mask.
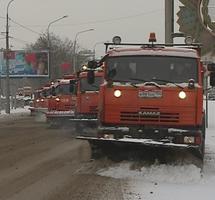
<path id="1" fill-rule="evenodd" d="M 6 76 L 6 56 L 9 59 L 10 77 L 48 77 L 48 51 L 5 51 L 0 52 L 0 75 Z"/>

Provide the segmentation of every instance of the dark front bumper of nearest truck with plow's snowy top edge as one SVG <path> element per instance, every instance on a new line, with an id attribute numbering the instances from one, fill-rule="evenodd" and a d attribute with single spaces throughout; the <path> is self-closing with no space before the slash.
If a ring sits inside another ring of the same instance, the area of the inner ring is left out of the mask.
<path id="1" fill-rule="evenodd" d="M 201 145 L 202 134 L 194 128 L 166 127 L 114 127 L 99 126 L 97 137 L 79 137 L 89 141 L 111 142 L 121 144 L 139 144 L 154 147 L 174 147 L 197 149 Z"/>

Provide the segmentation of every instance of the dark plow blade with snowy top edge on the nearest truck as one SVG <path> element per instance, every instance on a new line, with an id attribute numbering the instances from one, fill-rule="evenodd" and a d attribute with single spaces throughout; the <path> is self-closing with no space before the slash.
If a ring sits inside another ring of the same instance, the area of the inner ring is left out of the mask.
<path id="1" fill-rule="evenodd" d="M 89 142 L 93 159 L 103 156 L 121 159 L 120 157 L 125 158 L 125 155 L 122 156 L 122 154 L 126 154 L 126 157 L 132 160 L 134 157 L 138 157 L 139 160 L 158 158 L 158 160 L 162 160 L 161 163 L 194 164 L 203 170 L 203 158 L 197 153 L 199 147 L 195 145 L 157 142 L 151 139 L 104 139 L 87 136 L 77 136 L 76 138 Z M 137 156 L 138 154 L 140 156 Z"/>

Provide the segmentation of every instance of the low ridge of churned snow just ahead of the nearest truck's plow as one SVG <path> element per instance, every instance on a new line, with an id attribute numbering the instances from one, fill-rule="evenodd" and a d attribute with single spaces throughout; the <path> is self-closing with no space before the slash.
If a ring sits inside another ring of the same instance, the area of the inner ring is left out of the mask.
<path id="1" fill-rule="evenodd" d="M 201 179 L 201 169 L 195 165 L 152 165 L 140 169 L 131 169 L 131 163 L 100 170 L 97 174 L 117 179 L 135 179 L 148 182 L 190 183 Z"/>

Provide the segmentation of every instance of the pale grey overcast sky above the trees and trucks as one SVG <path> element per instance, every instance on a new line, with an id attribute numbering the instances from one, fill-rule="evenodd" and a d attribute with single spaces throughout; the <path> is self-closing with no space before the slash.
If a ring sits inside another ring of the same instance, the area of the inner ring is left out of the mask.
<path id="1" fill-rule="evenodd" d="M 9 0 L 0 0 L 0 31 L 5 32 L 6 7 Z M 68 18 L 50 26 L 50 32 L 61 38 L 74 40 L 79 31 L 95 29 L 78 35 L 83 48 L 92 49 L 97 42 L 111 41 L 120 35 L 125 42 L 147 42 L 149 32 L 156 32 L 159 42 L 164 42 L 165 0 L 14 0 L 9 7 L 10 45 L 23 49 L 26 43 L 33 43 L 39 34 L 45 33 L 48 24 L 64 15 Z M 175 11 L 178 1 L 175 1 Z M 175 17 L 176 23 L 177 17 Z M 176 25 L 177 29 L 177 25 Z M 175 30 L 177 32 L 177 30 Z M 0 36 L 0 48 L 5 40 Z M 104 46 L 96 46 L 98 55 L 104 53 Z"/>

